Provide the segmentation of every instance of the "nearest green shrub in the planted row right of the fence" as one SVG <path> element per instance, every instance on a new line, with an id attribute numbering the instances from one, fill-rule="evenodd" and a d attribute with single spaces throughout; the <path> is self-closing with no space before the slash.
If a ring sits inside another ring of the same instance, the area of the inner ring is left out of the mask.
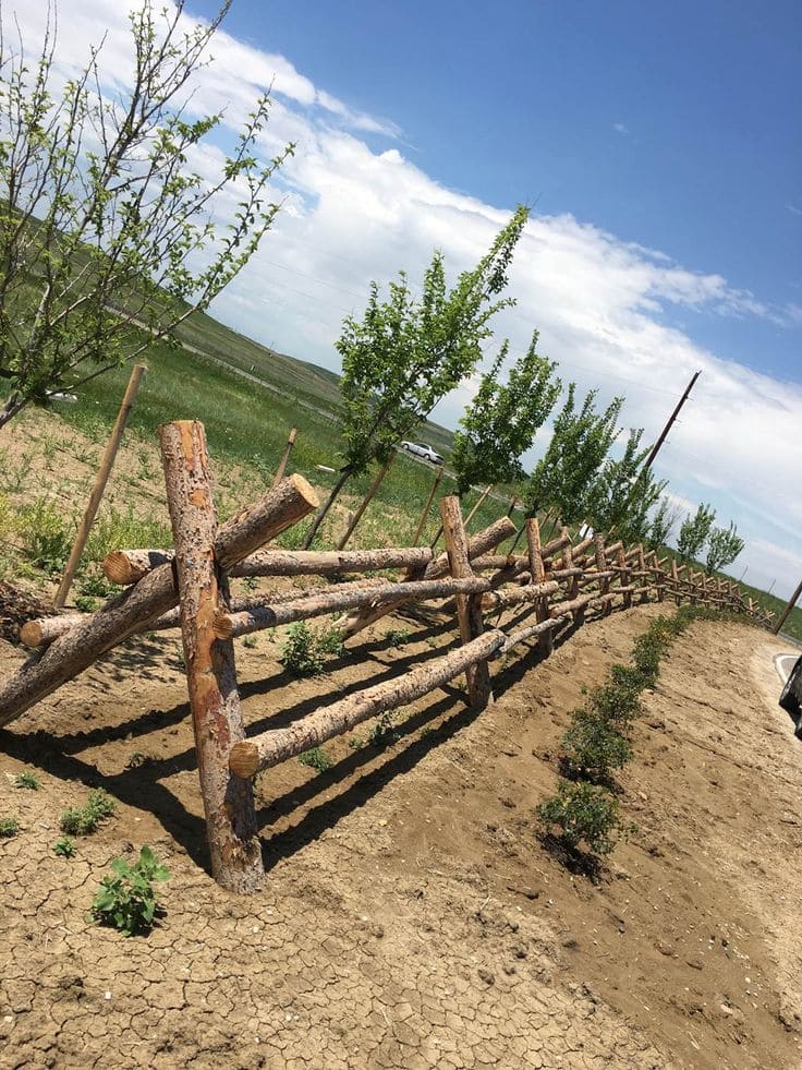
<path id="1" fill-rule="evenodd" d="M 561 780 L 557 794 L 537 807 L 537 817 L 545 834 L 556 834 L 573 851 L 584 843 L 593 854 L 609 854 L 623 829 L 617 800 L 584 782 Z"/>

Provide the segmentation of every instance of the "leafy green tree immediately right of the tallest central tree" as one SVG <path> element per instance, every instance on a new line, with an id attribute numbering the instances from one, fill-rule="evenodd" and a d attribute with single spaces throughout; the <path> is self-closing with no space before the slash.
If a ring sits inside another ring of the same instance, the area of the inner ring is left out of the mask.
<path id="1" fill-rule="evenodd" d="M 503 342 L 460 419 L 451 454 L 460 497 L 474 483 L 508 483 L 524 477 L 521 455 L 532 445 L 562 389 L 560 380 L 554 378 L 556 363 L 537 352 L 537 337 L 535 330 L 506 383 L 499 381 L 509 354 L 509 342 Z"/>

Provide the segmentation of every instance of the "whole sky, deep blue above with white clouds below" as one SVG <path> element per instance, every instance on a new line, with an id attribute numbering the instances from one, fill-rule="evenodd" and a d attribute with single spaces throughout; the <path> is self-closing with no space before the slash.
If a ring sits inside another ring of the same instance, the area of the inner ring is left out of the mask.
<path id="1" fill-rule="evenodd" d="M 25 38 L 44 5 L 20 5 Z M 190 0 L 189 17 L 208 16 Z M 131 69 L 125 5 L 75 0 L 66 72 L 107 31 Z M 680 509 L 710 502 L 748 546 L 732 572 L 790 593 L 802 575 L 802 4 L 234 0 L 190 109 L 232 137 L 272 84 L 262 147 L 295 141 L 282 211 L 212 308 L 281 351 L 338 366 L 372 279 L 420 278 L 434 248 L 473 266 L 515 204 L 533 215 L 497 321 L 654 440 Z M 215 151 L 192 160 L 211 177 Z M 231 205 L 220 206 L 220 217 Z M 488 359 L 493 350 L 488 351 Z M 475 383 L 436 410 L 453 426 Z M 530 459 L 548 440 L 540 434 Z"/>

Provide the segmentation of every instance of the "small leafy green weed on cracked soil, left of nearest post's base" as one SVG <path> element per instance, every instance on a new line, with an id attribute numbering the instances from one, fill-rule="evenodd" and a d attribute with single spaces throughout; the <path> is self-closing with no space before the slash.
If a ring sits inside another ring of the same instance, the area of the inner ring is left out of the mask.
<path id="1" fill-rule="evenodd" d="M 162 866 L 150 847 L 144 846 L 133 865 L 124 858 L 111 863 L 113 877 L 104 877 L 92 902 L 92 914 L 100 925 L 110 925 L 123 936 L 148 933 L 161 913 L 154 881 L 168 880 L 170 870 Z"/>

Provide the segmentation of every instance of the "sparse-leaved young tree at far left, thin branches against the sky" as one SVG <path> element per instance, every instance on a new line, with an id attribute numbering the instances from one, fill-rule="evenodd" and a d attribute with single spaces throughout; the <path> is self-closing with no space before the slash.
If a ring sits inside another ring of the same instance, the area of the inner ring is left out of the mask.
<path id="1" fill-rule="evenodd" d="M 192 168 L 222 112 L 193 119 L 190 82 L 230 2 L 185 29 L 183 0 L 159 16 L 143 0 L 122 92 L 106 89 L 101 45 L 58 84 L 54 20 L 28 62 L 0 9 L 0 426 L 205 309 L 270 227 L 279 206 L 267 185 L 293 146 L 256 156 L 267 95 L 216 177 Z M 221 194 L 236 201 L 223 224 Z"/>

